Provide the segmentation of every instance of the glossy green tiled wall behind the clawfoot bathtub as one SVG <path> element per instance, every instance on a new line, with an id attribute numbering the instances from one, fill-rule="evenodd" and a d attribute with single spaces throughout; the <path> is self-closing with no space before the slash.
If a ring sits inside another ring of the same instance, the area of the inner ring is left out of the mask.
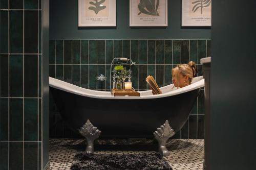
<path id="1" fill-rule="evenodd" d="M 51 40 L 50 76 L 92 90 L 110 91 L 110 64 L 114 57 L 130 58 L 133 87 L 147 90 L 147 75 L 160 87 L 172 84 L 172 68 L 194 61 L 202 76 L 201 58 L 210 56 L 210 40 Z M 103 74 L 106 81 L 97 81 Z M 50 138 L 78 137 L 62 122 L 50 96 Z M 174 138 L 204 138 L 204 90 Z"/>

